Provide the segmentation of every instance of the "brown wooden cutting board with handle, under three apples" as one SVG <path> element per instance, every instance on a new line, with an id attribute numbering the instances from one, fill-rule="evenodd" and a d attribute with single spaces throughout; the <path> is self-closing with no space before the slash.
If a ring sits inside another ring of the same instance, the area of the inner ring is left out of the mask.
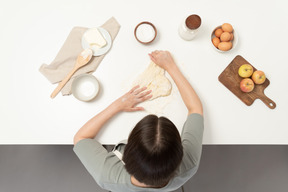
<path id="1" fill-rule="evenodd" d="M 270 84 L 269 79 L 262 85 L 256 85 L 250 93 L 244 93 L 240 89 L 240 81 L 243 79 L 238 75 L 238 69 L 243 64 L 250 64 L 242 56 L 237 55 L 226 69 L 219 75 L 218 80 L 227 87 L 234 95 L 236 95 L 246 105 L 250 106 L 256 99 L 262 100 L 270 109 L 276 107 L 276 103 L 264 94 L 264 89 Z M 257 70 L 253 65 L 254 71 Z"/>

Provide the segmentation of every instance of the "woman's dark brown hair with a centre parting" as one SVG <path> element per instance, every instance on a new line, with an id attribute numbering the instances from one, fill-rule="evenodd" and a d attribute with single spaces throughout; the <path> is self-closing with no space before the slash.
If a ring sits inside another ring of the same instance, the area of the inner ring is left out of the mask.
<path id="1" fill-rule="evenodd" d="M 148 115 L 130 133 L 123 161 L 127 172 L 139 182 L 163 187 L 175 175 L 182 157 L 176 126 L 165 117 Z"/>

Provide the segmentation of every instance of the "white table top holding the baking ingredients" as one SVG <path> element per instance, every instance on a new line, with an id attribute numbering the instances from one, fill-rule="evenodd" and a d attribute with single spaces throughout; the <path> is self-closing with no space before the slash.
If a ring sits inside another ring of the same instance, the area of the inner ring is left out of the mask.
<path id="1" fill-rule="evenodd" d="M 147 54 L 164 49 L 174 55 L 203 101 L 204 144 L 288 144 L 287 7 L 283 0 L 1 1 L 0 143 L 72 144 L 76 131 L 124 94 L 123 84 L 147 67 Z M 177 30 L 193 13 L 202 18 L 201 31 L 186 42 Z M 92 102 L 62 95 L 50 99 L 56 85 L 38 72 L 40 65 L 52 62 L 74 26 L 96 27 L 111 16 L 121 29 L 93 74 L 101 83 L 98 97 Z M 149 46 L 133 36 L 134 27 L 144 20 L 155 24 L 159 32 Z M 224 22 L 234 26 L 239 42 L 235 50 L 222 54 L 213 50 L 210 33 Z M 260 100 L 248 107 L 218 81 L 236 55 L 266 72 L 270 85 L 265 94 L 276 102 L 276 109 Z M 121 113 L 97 139 L 114 144 L 127 138 L 147 114 Z M 179 92 L 158 115 L 182 129 L 186 109 Z"/>

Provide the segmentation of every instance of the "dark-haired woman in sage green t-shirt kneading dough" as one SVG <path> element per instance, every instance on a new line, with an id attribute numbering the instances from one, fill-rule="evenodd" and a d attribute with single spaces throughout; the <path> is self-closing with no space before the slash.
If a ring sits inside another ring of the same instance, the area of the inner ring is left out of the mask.
<path id="1" fill-rule="evenodd" d="M 203 137 L 203 109 L 196 92 L 167 51 L 154 51 L 151 60 L 174 80 L 187 107 L 188 117 L 180 134 L 165 117 L 148 115 L 108 153 L 93 138 L 121 111 L 139 111 L 137 104 L 152 97 L 136 86 L 90 119 L 74 137 L 74 151 L 95 181 L 109 191 L 173 191 L 190 179 L 199 167 Z M 152 93 L 153 94 L 153 93 Z"/>

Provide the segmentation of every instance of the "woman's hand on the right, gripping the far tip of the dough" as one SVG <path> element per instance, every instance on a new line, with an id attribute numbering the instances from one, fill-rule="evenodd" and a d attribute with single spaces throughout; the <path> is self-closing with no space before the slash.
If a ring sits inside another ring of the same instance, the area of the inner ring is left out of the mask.
<path id="1" fill-rule="evenodd" d="M 159 67 L 165 69 L 166 71 L 170 71 L 171 68 L 175 67 L 176 64 L 171 54 L 168 51 L 153 51 L 149 54 L 150 59 Z"/>

